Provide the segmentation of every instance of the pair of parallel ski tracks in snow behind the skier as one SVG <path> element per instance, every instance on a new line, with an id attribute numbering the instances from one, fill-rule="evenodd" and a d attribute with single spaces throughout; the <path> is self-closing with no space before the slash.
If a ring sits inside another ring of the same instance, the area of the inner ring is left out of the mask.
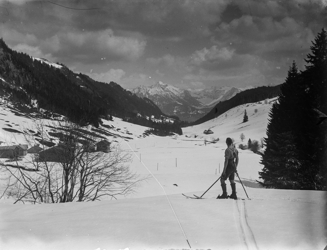
<path id="1" fill-rule="evenodd" d="M 241 208 L 239 207 L 239 203 L 241 203 Z M 234 202 L 233 214 L 238 238 L 240 240 L 240 246 L 244 246 L 241 249 L 259 250 L 257 242 L 254 239 L 252 230 L 247 221 L 247 213 L 244 200 L 236 200 Z"/>

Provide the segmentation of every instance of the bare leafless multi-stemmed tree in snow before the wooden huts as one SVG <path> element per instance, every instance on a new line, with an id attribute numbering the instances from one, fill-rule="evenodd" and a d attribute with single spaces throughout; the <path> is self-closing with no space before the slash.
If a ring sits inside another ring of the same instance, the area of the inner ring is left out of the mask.
<path id="1" fill-rule="evenodd" d="M 23 161 L 16 159 L 14 164 L 1 162 L 2 171 L 10 175 L 7 186 L 16 202 L 101 200 L 133 193 L 148 178 L 130 170 L 131 154 L 118 143 L 111 143 L 109 152 L 97 150 L 96 143 L 104 137 L 92 127 L 37 120 L 24 133 L 27 145 L 41 143 L 43 151 Z M 51 143 L 55 146 L 50 147 Z"/>

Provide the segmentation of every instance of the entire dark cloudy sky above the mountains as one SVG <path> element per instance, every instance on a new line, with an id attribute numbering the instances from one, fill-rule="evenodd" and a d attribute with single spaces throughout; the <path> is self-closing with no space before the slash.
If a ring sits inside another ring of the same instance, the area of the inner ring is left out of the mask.
<path id="1" fill-rule="evenodd" d="M 327 28 L 327 0 L 4 0 L 12 49 L 124 88 L 281 84 Z"/>

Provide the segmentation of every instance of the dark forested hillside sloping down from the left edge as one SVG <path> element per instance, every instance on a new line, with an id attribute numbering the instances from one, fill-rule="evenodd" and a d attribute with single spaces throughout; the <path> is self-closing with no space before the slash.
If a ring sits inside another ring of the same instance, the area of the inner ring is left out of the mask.
<path id="1" fill-rule="evenodd" d="M 45 59 L 33 59 L 27 54 L 8 48 L 0 40 L 0 77 L 2 89 L 10 94 L 10 101 L 19 106 L 37 103 L 54 113 L 82 118 L 98 126 L 100 117 L 160 116 L 161 110 L 149 99 L 139 98 L 114 82 L 97 82 L 77 74 L 63 64 Z M 60 67 L 59 67 L 60 66 Z"/>

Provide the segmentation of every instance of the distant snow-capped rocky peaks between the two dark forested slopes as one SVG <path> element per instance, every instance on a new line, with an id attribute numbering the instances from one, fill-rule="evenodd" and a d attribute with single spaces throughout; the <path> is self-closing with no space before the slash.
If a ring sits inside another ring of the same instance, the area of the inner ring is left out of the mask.
<path id="1" fill-rule="evenodd" d="M 129 89 L 141 98 L 153 101 L 165 114 L 193 122 L 207 114 L 218 102 L 229 100 L 243 90 L 254 88 L 216 87 L 208 89 L 179 88 L 158 82 L 155 85 Z"/>

